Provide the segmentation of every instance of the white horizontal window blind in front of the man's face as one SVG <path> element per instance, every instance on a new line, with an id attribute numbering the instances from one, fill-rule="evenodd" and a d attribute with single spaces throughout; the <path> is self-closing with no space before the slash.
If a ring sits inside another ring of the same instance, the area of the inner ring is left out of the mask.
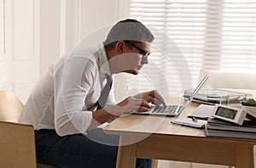
<path id="1" fill-rule="evenodd" d="M 201 68 L 256 71 L 255 0 L 129 0 L 128 14 L 155 36 L 149 64 L 127 78 L 129 90 L 177 95 L 195 87 Z"/>

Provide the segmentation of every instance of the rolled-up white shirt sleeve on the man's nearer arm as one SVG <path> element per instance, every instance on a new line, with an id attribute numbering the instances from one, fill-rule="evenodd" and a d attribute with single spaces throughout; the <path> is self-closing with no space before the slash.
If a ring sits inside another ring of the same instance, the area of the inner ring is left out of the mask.
<path id="1" fill-rule="evenodd" d="M 96 68 L 90 59 L 68 59 L 55 73 L 55 131 L 60 136 L 86 133 L 92 112 L 84 107 L 86 95 L 92 87 Z"/>

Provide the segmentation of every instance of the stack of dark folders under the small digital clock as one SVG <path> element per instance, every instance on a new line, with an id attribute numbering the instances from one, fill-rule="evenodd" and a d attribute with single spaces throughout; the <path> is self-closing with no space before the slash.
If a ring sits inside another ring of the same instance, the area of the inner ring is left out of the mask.
<path id="1" fill-rule="evenodd" d="M 209 118 L 205 128 L 206 135 L 210 137 L 238 137 L 256 139 L 256 122 L 244 120 L 242 126 Z"/>

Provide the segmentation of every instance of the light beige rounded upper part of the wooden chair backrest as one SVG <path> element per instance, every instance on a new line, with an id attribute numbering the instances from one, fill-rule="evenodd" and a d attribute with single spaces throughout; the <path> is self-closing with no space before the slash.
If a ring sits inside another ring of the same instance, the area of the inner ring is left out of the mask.
<path id="1" fill-rule="evenodd" d="M 13 92 L 0 91 L 0 120 L 19 122 L 23 107 Z"/>

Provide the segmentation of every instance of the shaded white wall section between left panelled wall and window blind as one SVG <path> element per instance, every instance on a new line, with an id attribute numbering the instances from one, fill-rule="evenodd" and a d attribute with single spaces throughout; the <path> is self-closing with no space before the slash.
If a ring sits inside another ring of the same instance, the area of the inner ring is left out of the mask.
<path id="1" fill-rule="evenodd" d="M 118 0 L 40 1 L 40 72 L 84 36 L 118 20 Z"/>

